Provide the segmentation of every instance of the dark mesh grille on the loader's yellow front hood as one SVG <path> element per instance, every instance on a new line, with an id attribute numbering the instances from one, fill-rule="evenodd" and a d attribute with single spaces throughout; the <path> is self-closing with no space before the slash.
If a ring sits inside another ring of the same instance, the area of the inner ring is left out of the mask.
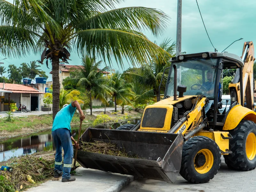
<path id="1" fill-rule="evenodd" d="M 141 126 L 163 128 L 166 112 L 166 108 L 147 108 L 145 110 Z"/>

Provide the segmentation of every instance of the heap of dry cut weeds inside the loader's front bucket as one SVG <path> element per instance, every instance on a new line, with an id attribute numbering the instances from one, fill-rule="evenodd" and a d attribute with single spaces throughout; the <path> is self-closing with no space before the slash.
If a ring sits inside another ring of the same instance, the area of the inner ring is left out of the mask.
<path id="1" fill-rule="evenodd" d="M 105 155 L 113 155 L 120 157 L 131 157 L 140 159 L 138 155 L 129 155 L 125 152 L 125 149 L 118 149 L 115 143 L 106 143 L 103 141 L 92 141 L 92 142 L 81 142 L 80 150 L 92 152 L 92 153 L 101 153 Z"/>

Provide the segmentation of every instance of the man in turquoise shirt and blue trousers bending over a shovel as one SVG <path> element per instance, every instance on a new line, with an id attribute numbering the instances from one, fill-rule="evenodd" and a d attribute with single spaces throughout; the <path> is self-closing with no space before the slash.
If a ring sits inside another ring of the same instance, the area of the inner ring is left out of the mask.
<path id="1" fill-rule="evenodd" d="M 85 116 L 79 103 L 75 100 L 69 105 L 63 105 L 63 108 L 56 114 L 52 125 L 52 137 L 56 147 L 54 177 L 58 178 L 62 175 L 62 182 L 76 180 L 75 177 L 70 176 L 73 160 L 72 141 L 75 143 L 75 147 L 79 148 L 71 135 L 70 128 L 70 122 L 76 109 L 80 113 L 80 120 L 83 121 Z M 62 148 L 64 150 L 63 165 L 61 155 Z"/>

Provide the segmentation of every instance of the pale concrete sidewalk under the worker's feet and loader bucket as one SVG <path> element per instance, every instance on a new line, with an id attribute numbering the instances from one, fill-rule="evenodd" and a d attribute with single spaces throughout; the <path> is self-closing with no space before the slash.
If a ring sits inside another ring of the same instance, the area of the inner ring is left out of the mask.
<path id="1" fill-rule="evenodd" d="M 121 175 L 116 173 L 103 172 L 93 169 L 77 168 L 79 173 L 76 180 L 72 182 L 61 182 L 49 180 L 38 187 L 33 187 L 27 191 L 33 192 L 119 192 L 125 185 L 133 179 L 132 176 Z"/>

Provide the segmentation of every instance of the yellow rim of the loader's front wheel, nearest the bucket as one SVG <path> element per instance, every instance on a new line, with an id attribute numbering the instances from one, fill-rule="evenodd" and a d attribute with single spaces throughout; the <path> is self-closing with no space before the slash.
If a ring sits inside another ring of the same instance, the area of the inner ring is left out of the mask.
<path id="1" fill-rule="evenodd" d="M 194 158 L 194 166 L 198 173 L 204 174 L 211 170 L 213 165 L 213 154 L 209 149 L 202 149 L 197 152 Z"/>

